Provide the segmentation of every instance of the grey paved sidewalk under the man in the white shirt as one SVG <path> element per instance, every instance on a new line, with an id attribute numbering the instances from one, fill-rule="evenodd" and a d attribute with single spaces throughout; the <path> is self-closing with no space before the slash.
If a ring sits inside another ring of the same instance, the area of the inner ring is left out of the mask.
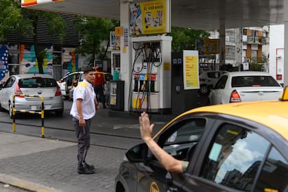
<path id="1" fill-rule="evenodd" d="M 79 175 L 77 143 L 0 132 L 0 182 L 30 191 L 114 191 L 125 151 L 91 146 L 95 173 Z"/>

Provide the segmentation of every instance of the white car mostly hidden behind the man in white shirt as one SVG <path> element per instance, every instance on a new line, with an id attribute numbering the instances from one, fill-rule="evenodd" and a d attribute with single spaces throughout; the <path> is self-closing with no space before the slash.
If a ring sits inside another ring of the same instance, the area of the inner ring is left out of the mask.
<path id="1" fill-rule="evenodd" d="M 61 80 L 59 80 L 57 83 L 60 86 L 61 93 L 65 99 L 69 98 L 69 90 L 71 89 L 73 76 L 77 75 L 78 82 L 82 82 L 84 80 L 84 73 L 83 71 L 77 71 L 73 73 L 68 73 L 64 77 L 62 77 Z M 104 73 L 106 82 L 110 81 L 112 79 L 111 73 Z M 107 83 L 105 84 L 105 91 L 104 95 L 108 93 Z"/>

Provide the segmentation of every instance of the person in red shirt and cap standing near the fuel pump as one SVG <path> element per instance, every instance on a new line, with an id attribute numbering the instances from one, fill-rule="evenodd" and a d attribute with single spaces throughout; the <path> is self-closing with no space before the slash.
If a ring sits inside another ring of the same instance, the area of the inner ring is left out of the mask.
<path id="1" fill-rule="evenodd" d="M 93 82 L 94 91 L 96 95 L 99 95 L 99 99 L 103 105 L 103 108 L 106 108 L 104 95 L 104 85 L 106 84 L 105 75 L 100 67 L 95 67 L 95 69 L 95 79 Z"/>

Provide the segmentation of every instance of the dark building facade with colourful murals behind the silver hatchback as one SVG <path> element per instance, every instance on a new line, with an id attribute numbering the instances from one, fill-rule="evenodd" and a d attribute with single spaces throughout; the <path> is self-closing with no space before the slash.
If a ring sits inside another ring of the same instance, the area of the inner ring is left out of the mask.
<path id="1" fill-rule="evenodd" d="M 38 43 L 47 51 L 43 63 L 44 73 L 52 75 L 56 80 L 65 73 L 78 71 L 78 56 L 75 48 L 79 46 L 79 37 L 73 25 L 75 15 L 60 14 L 67 24 L 66 36 L 60 43 L 58 35 L 48 34 L 46 21 L 38 21 Z M 23 38 L 20 34 L 11 34 L 5 43 L 0 44 L 0 84 L 10 75 L 22 73 L 38 73 L 38 64 L 33 38 Z"/>

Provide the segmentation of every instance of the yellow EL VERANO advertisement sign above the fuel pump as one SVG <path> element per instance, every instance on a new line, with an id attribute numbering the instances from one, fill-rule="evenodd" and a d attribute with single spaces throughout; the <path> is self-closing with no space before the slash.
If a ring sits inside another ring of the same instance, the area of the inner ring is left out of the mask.
<path id="1" fill-rule="evenodd" d="M 130 5 L 130 34 L 163 34 L 170 32 L 170 1 L 147 1 Z"/>

